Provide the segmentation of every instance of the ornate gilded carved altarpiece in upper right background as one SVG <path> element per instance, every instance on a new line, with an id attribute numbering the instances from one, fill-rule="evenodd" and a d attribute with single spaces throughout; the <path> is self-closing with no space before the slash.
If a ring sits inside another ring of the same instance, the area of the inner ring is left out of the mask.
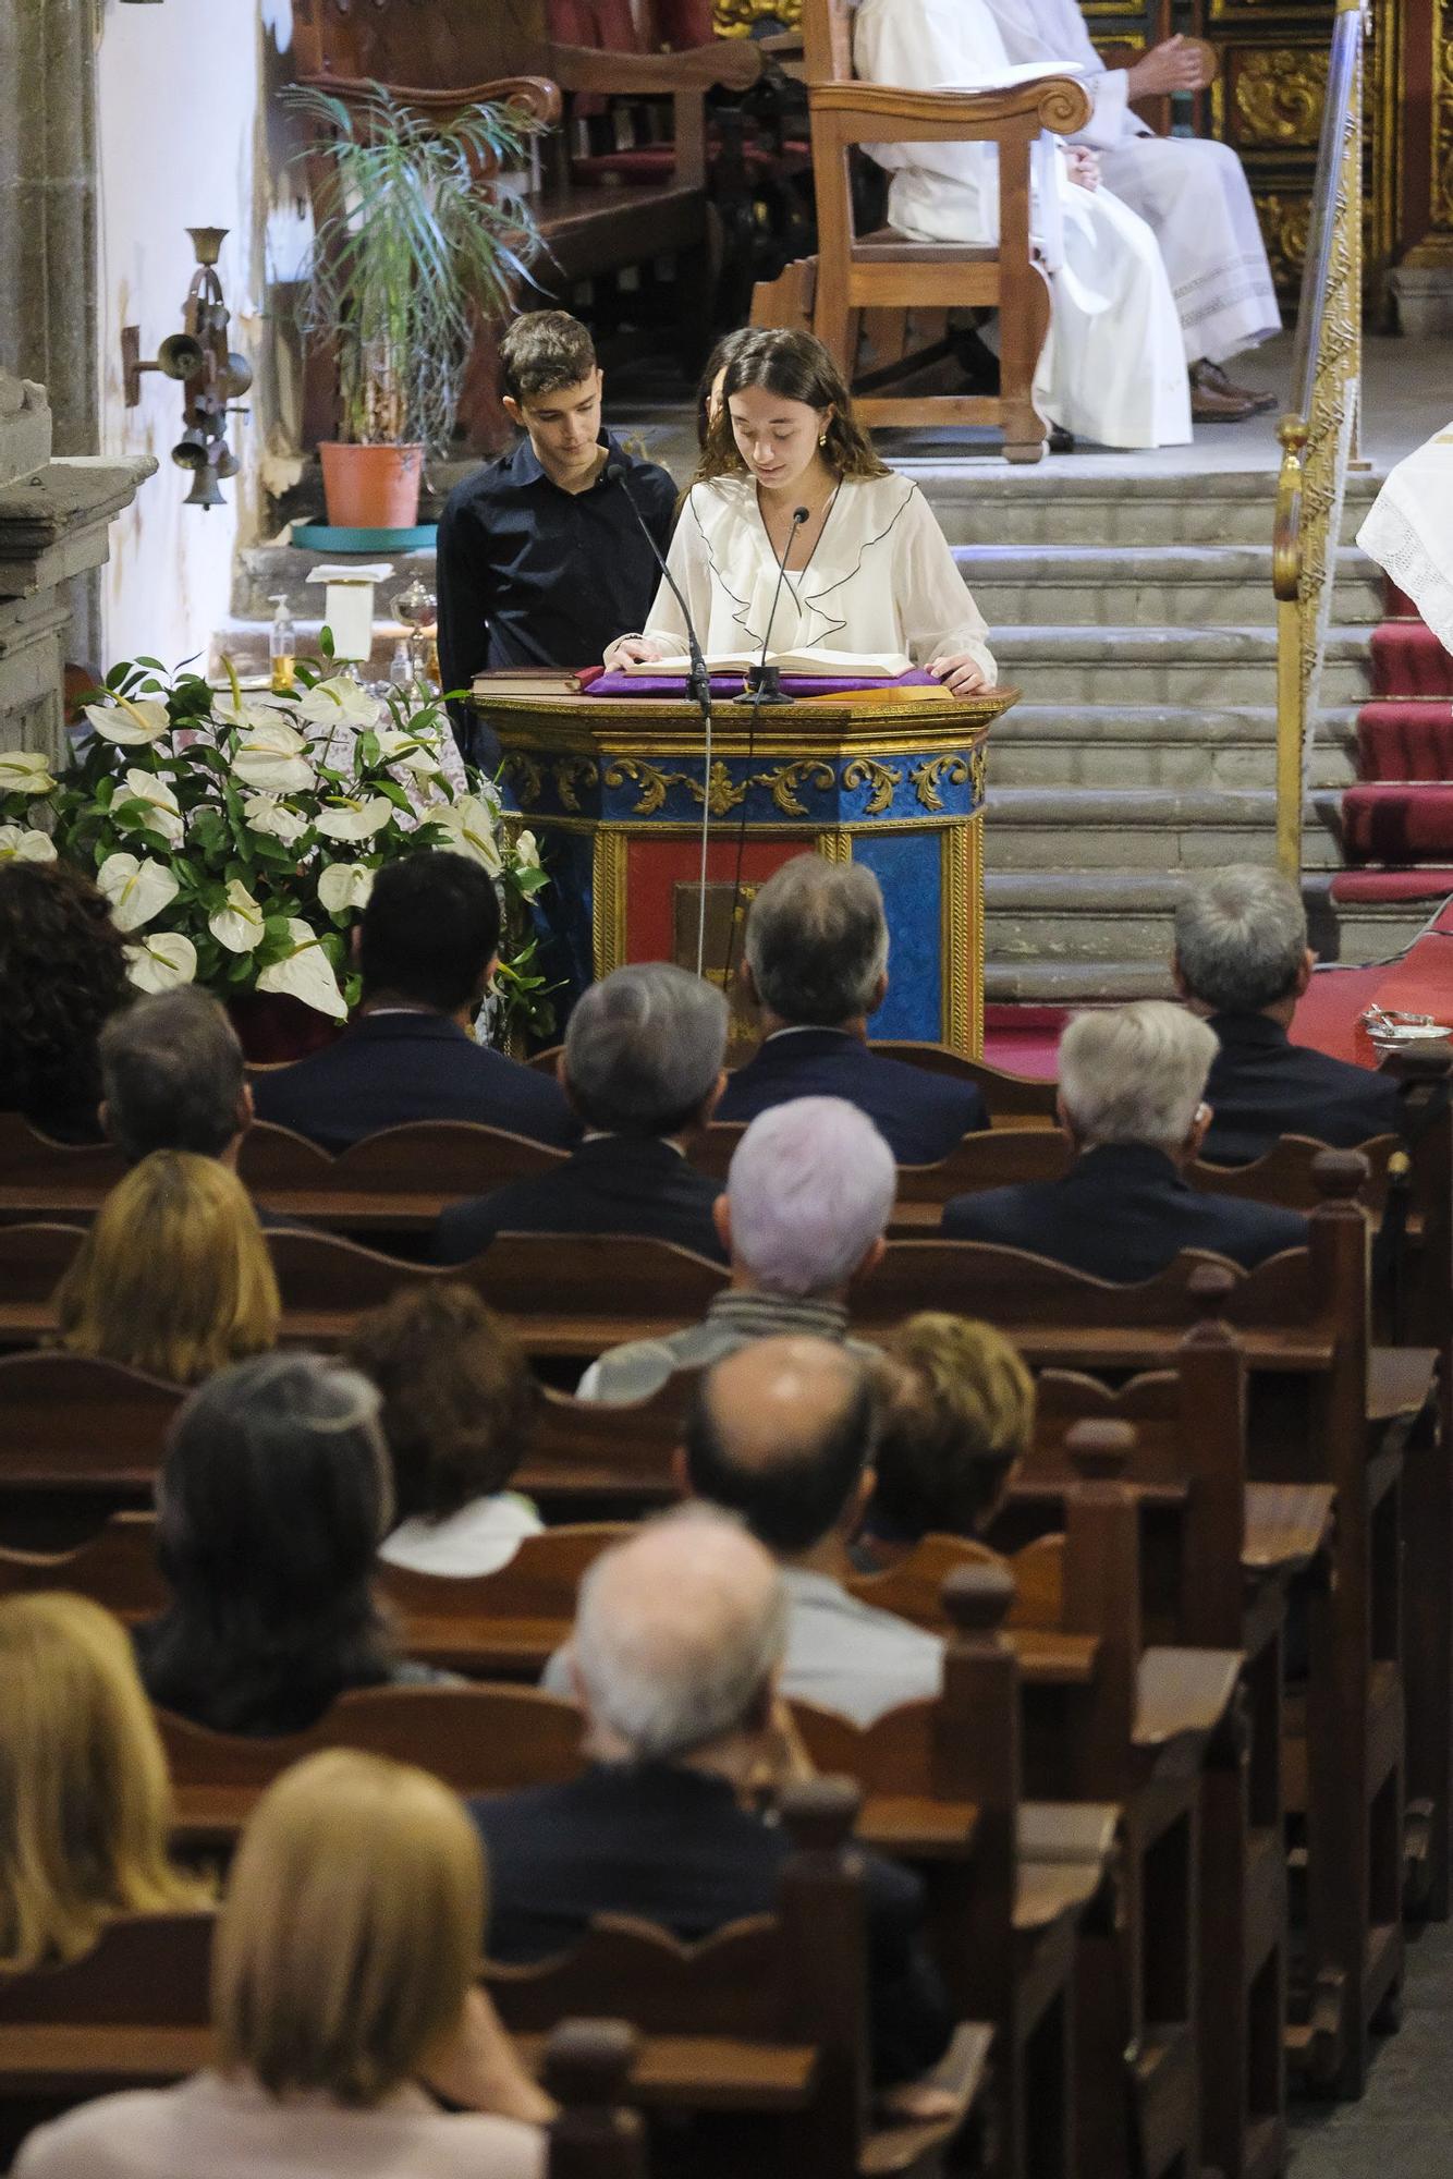
<path id="1" fill-rule="evenodd" d="M 1209 39 L 1220 72 L 1200 133 L 1240 153 L 1283 296 L 1307 246 L 1333 0 L 1083 0 L 1100 46 L 1144 50 L 1172 31 Z M 717 26 L 797 28 L 799 0 L 715 0 Z M 1399 264 L 1453 270 L 1453 0 L 1372 0 L 1366 113 L 1366 294 L 1385 309 Z M 1187 100 L 1189 107 L 1189 100 Z"/>

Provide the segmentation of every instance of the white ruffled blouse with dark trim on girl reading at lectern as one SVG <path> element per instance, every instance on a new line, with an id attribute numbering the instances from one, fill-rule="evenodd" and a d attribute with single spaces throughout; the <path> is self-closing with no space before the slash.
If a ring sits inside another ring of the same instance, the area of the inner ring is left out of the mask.
<path id="1" fill-rule="evenodd" d="M 778 582 L 771 538 L 749 477 L 693 484 L 669 553 L 708 658 L 762 647 Z M 686 647 L 682 610 L 662 582 L 643 634 Z M 789 569 L 771 649 L 967 654 L 998 680 L 985 617 L 917 484 L 843 477 L 806 569 Z"/>

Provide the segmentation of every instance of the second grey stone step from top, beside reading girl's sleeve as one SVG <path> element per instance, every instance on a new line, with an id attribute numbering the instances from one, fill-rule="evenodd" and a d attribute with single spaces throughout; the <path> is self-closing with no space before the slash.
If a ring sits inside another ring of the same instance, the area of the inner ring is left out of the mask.
<path id="1" fill-rule="evenodd" d="M 1019 623 L 1272 628 L 1270 545 L 954 545 L 991 630 Z M 1338 621 L 1377 625 L 1383 577 L 1366 553 L 1338 560 Z"/>

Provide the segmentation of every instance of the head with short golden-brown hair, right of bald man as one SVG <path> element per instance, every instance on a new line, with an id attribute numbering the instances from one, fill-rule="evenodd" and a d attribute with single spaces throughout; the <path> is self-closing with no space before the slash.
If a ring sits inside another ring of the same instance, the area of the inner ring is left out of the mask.
<path id="1" fill-rule="evenodd" d="M 993 1325 L 924 1310 L 882 1340 L 876 1488 L 854 1558 L 898 1567 L 924 1536 L 978 1536 L 1035 1440 L 1035 1379 Z"/>

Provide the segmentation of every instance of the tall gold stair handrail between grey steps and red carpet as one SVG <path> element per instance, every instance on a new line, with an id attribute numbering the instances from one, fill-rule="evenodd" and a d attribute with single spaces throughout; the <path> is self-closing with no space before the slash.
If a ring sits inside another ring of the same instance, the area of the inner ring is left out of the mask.
<path id="1" fill-rule="evenodd" d="M 1272 525 L 1277 597 L 1277 863 L 1303 865 L 1303 802 L 1346 471 L 1362 399 L 1362 74 L 1366 0 L 1338 0 L 1307 255 L 1292 344 L 1292 410 L 1281 418 Z"/>

